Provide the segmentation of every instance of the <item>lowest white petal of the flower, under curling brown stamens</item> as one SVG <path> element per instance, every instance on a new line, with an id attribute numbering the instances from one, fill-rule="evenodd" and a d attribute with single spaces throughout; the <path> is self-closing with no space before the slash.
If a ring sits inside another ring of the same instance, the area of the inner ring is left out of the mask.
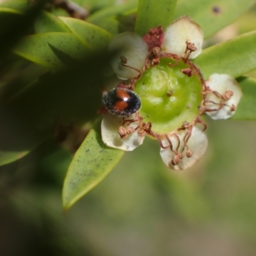
<path id="1" fill-rule="evenodd" d="M 183 138 L 186 134 L 186 131 L 179 131 L 178 134 L 180 138 L 180 147 L 178 149 L 178 152 L 181 153 L 181 148 L 183 148 L 184 146 Z M 173 136 L 172 133 L 170 134 L 169 138 L 172 141 L 173 149 L 177 148 L 177 138 Z M 162 143 L 164 146 L 168 145 L 168 142 L 166 140 L 163 140 Z M 185 149 L 184 152 L 182 152 L 184 157 L 180 159 L 179 163 L 176 165 L 172 164 L 172 159 L 173 157 L 175 157 L 175 152 L 170 150 L 170 148 L 161 148 L 160 156 L 162 157 L 164 164 L 174 170 L 185 170 L 193 166 L 193 164 L 195 164 L 205 153 L 208 145 L 206 134 L 198 127 L 193 127 L 187 145 L 189 149 L 193 152 L 192 156 L 187 157 Z"/>

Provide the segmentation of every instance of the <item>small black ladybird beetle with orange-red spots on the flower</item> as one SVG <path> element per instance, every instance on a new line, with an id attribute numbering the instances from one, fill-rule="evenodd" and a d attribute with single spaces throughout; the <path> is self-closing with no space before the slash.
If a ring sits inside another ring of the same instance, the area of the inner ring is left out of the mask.
<path id="1" fill-rule="evenodd" d="M 127 88 L 115 88 L 103 95 L 102 103 L 113 115 L 130 116 L 140 109 L 138 95 Z"/>

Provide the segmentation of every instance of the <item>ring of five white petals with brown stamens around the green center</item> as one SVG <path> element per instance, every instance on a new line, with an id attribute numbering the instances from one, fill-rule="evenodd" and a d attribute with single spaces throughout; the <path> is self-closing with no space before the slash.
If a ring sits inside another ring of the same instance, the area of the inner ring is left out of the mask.
<path id="1" fill-rule="evenodd" d="M 122 33 L 115 36 L 109 44 L 111 51 L 120 49 L 111 61 L 111 65 L 120 79 L 130 79 L 130 82 L 136 83 L 140 79 L 139 75 L 150 65 L 155 67 L 161 58 L 173 58 L 176 61 L 189 63 L 189 67 L 184 68 L 182 72 L 190 77 L 200 73 L 200 70 L 193 66 L 191 59 L 202 52 L 203 39 L 202 29 L 188 16 L 173 21 L 166 28 L 165 33 L 161 30 L 161 26 L 150 29 L 144 40 L 135 33 Z M 104 115 L 101 125 L 104 143 L 108 147 L 131 151 L 143 143 L 147 134 L 159 141 L 160 155 L 166 166 L 175 170 L 191 167 L 204 155 L 207 148 L 207 136 L 198 127 L 198 124 L 202 124 L 204 129 L 206 128 L 200 116 L 207 113 L 213 119 L 229 118 L 234 115 L 242 95 L 241 88 L 233 77 L 226 74 L 212 74 L 207 81 L 204 81 L 201 73 L 199 76 L 202 81 L 202 102 L 198 116 L 193 122 L 189 124 L 184 120 L 184 123 L 174 131 L 156 134 L 154 124 L 145 124 L 143 118 L 136 119 L 136 115 L 140 116 L 140 111 L 125 119 L 108 113 Z M 136 86 L 136 84 L 132 85 Z M 134 122 L 129 122 L 132 118 Z"/>

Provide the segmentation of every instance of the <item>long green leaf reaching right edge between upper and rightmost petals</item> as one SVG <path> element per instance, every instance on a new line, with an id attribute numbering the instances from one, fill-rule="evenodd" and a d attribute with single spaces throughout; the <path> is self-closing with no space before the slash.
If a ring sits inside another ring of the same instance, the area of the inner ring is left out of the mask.
<path id="1" fill-rule="evenodd" d="M 256 68 L 256 31 L 205 49 L 195 59 L 207 79 L 212 73 L 239 77 Z"/>

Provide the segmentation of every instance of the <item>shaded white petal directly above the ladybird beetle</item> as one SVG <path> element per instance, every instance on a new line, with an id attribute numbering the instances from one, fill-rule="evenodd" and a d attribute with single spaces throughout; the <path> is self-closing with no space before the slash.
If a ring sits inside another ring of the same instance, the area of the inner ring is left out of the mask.
<path id="1" fill-rule="evenodd" d="M 113 52 L 118 51 L 118 54 L 111 60 L 111 66 L 120 79 L 133 78 L 139 74 L 138 71 L 132 68 L 124 67 L 120 59 L 121 56 L 124 56 L 127 60 L 125 65 L 137 68 L 140 71 L 143 70 L 148 54 L 148 45 L 141 36 L 133 32 L 121 33 L 112 38 L 108 49 Z"/>

